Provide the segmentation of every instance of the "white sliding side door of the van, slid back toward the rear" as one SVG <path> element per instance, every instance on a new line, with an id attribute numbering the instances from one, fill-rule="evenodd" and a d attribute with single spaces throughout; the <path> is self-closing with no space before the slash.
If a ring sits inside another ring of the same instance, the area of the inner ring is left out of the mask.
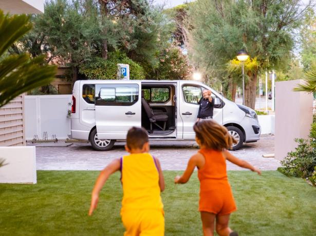
<path id="1" fill-rule="evenodd" d="M 98 139 L 126 139 L 132 126 L 141 127 L 140 82 L 96 84 Z"/>

